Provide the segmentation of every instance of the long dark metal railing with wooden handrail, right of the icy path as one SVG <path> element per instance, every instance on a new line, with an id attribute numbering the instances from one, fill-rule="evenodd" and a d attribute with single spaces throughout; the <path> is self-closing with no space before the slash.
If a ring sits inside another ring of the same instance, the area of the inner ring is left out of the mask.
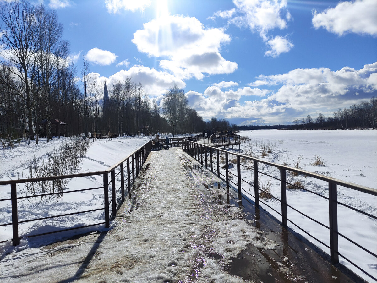
<path id="1" fill-rule="evenodd" d="M 357 263 L 352 262 L 351 259 L 347 258 L 344 254 L 340 253 L 339 251 L 339 244 L 338 239 L 339 237 L 342 238 L 342 240 L 348 241 L 349 244 L 357 246 L 358 248 L 362 249 L 363 251 L 367 252 L 368 254 L 372 255 L 377 260 L 377 255 L 368 249 L 367 247 L 363 246 L 363 243 L 357 243 L 355 240 L 350 239 L 350 237 L 340 233 L 338 231 L 338 208 L 347 208 L 352 211 L 356 211 L 357 213 L 361 213 L 367 217 L 370 217 L 371 219 L 377 220 L 377 217 L 366 213 L 359 208 L 352 207 L 351 205 L 339 202 L 337 200 L 337 186 L 342 186 L 345 188 L 349 188 L 352 190 L 356 190 L 362 193 L 365 193 L 367 195 L 377 196 L 377 190 L 361 185 L 356 185 L 350 182 L 341 181 L 338 179 L 334 179 L 331 177 L 323 176 L 316 173 L 311 173 L 305 170 L 300 170 L 297 168 L 292 168 L 280 164 L 274 164 L 272 162 L 264 161 L 257 158 L 252 158 L 250 156 L 241 155 L 237 153 L 232 153 L 227 150 L 222 150 L 216 147 L 211 147 L 208 145 L 204 145 L 195 141 L 190 141 L 189 139 L 184 139 L 182 149 L 188 153 L 190 156 L 192 156 L 194 159 L 196 159 L 199 163 L 201 163 L 203 166 L 208 168 L 212 173 L 217 174 L 217 176 L 224 180 L 227 185 L 227 190 L 229 190 L 229 187 L 233 187 L 234 190 L 238 191 L 238 198 L 239 203 L 242 205 L 242 197 L 244 199 L 247 199 L 248 201 L 253 202 L 253 200 L 250 199 L 250 196 L 254 198 L 254 203 L 256 207 L 260 207 L 261 204 L 263 206 L 267 206 L 268 208 L 275 211 L 275 213 L 279 214 L 281 217 L 281 222 L 284 226 L 287 226 L 288 221 L 292 223 L 294 226 L 296 226 L 300 231 L 305 233 L 306 235 L 310 236 L 314 240 L 321 243 L 323 246 L 327 247 L 329 249 L 330 259 L 331 262 L 336 264 L 339 263 L 339 256 L 341 256 L 343 259 L 345 259 L 347 262 L 351 263 L 351 265 L 355 266 L 356 268 L 360 269 L 360 271 L 364 272 L 366 275 L 368 275 L 370 278 L 377 280 L 375 277 L 373 277 L 371 274 L 366 272 L 362 266 L 358 265 Z M 222 168 L 220 166 L 220 158 L 221 156 L 224 156 L 224 162 L 225 166 Z M 230 167 L 228 166 L 230 159 L 234 163 L 236 163 L 236 173 L 233 173 L 234 170 L 230 170 Z M 241 159 L 243 161 L 248 161 L 250 165 L 247 164 L 247 162 L 241 163 Z M 265 171 L 262 171 L 259 169 L 263 166 L 270 166 L 274 167 L 277 171 L 276 176 L 272 176 L 270 174 L 267 174 Z M 245 180 L 241 176 L 241 167 L 246 168 L 246 170 L 250 170 L 250 172 L 253 173 L 253 177 L 250 178 L 253 182 L 249 182 L 248 180 Z M 304 187 L 300 187 L 297 184 L 291 184 L 287 181 L 287 171 L 291 174 L 300 174 L 303 176 L 312 177 L 316 180 L 320 180 L 321 182 L 324 181 L 326 184 L 328 184 L 328 196 L 324 196 L 322 194 L 319 194 L 315 191 L 308 190 Z M 262 190 L 262 188 L 259 185 L 259 177 L 261 175 L 268 176 L 271 179 L 277 180 L 280 183 L 280 198 L 273 196 L 271 193 L 269 193 L 267 190 Z M 250 187 L 253 187 L 254 190 L 251 191 L 251 193 L 245 194 L 245 186 L 242 187 L 242 184 L 247 184 Z M 287 203 L 287 185 L 293 186 L 296 188 L 299 188 L 300 190 L 304 190 L 308 193 L 312 193 L 317 197 L 320 197 L 322 199 L 327 200 L 328 206 L 329 206 L 329 213 L 328 213 L 328 219 L 329 219 L 329 225 L 326 225 L 316 219 L 314 217 L 308 216 L 307 214 L 303 213 L 302 211 L 297 210 L 293 207 L 293 205 Z M 254 195 L 253 195 L 254 194 Z M 268 204 L 263 199 L 261 199 L 260 194 L 265 194 L 267 198 L 277 200 L 280 203 L 280 209 L 276 210 L 272 207 L 271 203 Z M 297 225 L 297 223 L 292 222 L 289 219 L 289 215 L 287 213 L 287 208 L 290 208 L 290 212 L 299 213 L 301 216 L 306 217 L 305 221 L 311 220 L 320 225 L 322 228 L 325 228 L 328 230 L 328 238 L 327 241 L 329 244 L 325 243 L 323 240 L 318 239 L 317 237 L 314 237 L 309 232 L 305 231 L 302 227 Z M 363 233 L 363 231 L 358 231 L 358 233 Z M 375 247 L 373 247 L 375 248 Z"/>

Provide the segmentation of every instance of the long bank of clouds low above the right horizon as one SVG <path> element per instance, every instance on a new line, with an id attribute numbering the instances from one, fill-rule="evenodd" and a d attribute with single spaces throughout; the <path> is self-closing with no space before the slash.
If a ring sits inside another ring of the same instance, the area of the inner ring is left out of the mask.
<path id="1" fill-rule="evenodd" d="M 317 111 L 331 115 L 339 107 L 349 107 L 377 95 L 377 62 L 360 70 L 295 69 L 285 74 L 261 75 L 249 85 L 255 87 L 224 92 L 219 83 L 203 93 L 189 91 L 186 96 L 190 106 L 205 119 L 216 116 L 270 124 L 290 122 L 298 115 Z M 262 85 L 273 90 L 259 88 Z"/>

